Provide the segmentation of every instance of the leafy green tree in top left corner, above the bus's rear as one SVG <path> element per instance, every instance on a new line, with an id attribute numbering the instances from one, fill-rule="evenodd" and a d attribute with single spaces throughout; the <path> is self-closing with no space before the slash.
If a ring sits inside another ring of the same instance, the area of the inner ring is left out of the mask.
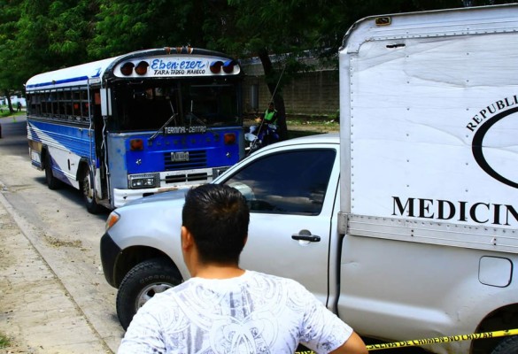
<path id="1" fill-rule="evenodd" d="M 21 93 L 36 73 L 88 61 L 93 34 L 92 1 L 12 0 L 0 7 L 0 90 Z M 12 107 L 11 107 L 12 109 Z"/>

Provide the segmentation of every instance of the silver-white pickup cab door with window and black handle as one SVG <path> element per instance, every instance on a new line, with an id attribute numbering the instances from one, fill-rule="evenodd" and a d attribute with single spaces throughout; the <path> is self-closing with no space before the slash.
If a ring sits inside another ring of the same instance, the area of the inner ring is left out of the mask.
<path id="1" fill-rule="evenodd" d="M 338 144 L 282 147 L 251 157 L 224 183 L 251 208 L 244 269 L 299 281 L 328 301 L 329 237 L 339 178 Z"/>

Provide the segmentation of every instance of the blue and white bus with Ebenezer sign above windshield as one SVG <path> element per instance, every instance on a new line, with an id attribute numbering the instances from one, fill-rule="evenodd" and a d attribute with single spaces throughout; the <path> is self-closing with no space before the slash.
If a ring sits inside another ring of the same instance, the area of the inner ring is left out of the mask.
<path id="1" fill-rule="evenodd" d="M 244 156 L 236 60 L 140 50 L 27 81 L 27 136 L 50 189 L 81 189 L 89 212 L 212 181 Z"/>

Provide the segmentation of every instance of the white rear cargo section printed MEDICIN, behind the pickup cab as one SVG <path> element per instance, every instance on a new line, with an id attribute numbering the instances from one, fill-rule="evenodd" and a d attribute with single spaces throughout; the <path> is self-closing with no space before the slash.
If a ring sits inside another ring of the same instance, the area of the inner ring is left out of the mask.
<path id="1" fill-rule="evenodd" d="M 346 35 L 337 311 L 360 333 L 518 327 L 517 31 L 511 5 L 373 17 Z"/>

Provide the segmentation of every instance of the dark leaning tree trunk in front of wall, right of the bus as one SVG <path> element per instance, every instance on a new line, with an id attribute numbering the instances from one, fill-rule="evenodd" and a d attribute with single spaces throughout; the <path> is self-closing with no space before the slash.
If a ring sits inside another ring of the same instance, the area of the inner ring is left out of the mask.
<path id="1" fill-rule="evenodd" d="M 270 95 L 273 96 L 275 109 L 277 110 L 277 133 L 279 134 L 280 140 L 286 140 L 288 139 L 288 126 L 286 124 L 286 107 L 284 106 L 284 98 L 281 93 L 282 77 L 280 77 L 280 75 L 282 73 L 275 73 L 274 65 L 272 65 L 272 60 L 266 48 L 259 51 L 259 59 L 263 65 L 268 90 L 270 91 Z M 269 102 L 267 104 L 269 104 Z M 262 112 L 266 109 L 267 107 L 265 107 Z"/>

